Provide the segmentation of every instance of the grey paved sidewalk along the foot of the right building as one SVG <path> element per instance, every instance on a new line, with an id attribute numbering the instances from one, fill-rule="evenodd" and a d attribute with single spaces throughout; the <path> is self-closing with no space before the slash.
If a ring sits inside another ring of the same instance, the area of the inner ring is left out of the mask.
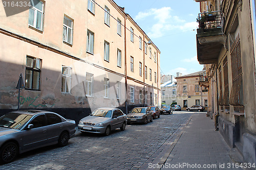
<path id="1" fill-rule="evenodd" d="M 241 169 L 229 157 L 230 148 L 205 113 L 195 113 L 172 143 L 161 169 Z M 201 168 L 200 168 L 201 167 Z M 159 168 L 156 168 L 159 169 Z"/>

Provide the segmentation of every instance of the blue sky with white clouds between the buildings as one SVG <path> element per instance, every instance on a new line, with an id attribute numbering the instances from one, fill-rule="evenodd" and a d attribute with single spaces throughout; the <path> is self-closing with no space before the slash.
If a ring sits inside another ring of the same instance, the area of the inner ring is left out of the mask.
<path id="1" fill-rule="evenodd" d="M 187 75 L 203 69 L 197 61 L 194 0 L 114 0 L 128 13 L 161 51 L 162 74 Z M 194 30 L 194 31 L 193 31 Z"/>

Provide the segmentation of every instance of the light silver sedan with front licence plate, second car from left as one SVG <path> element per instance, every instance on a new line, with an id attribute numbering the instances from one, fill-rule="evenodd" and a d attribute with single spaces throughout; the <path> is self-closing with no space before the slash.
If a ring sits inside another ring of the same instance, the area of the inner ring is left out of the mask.
<path id="1" fill-rule="evenodd" d="M 127 116 L 117 108 L 98 108 L 89 116 L 82 118 L 78 124 L 81 133 L 101 133 L 108 136 L 112 130 L 125 130 Z"/>

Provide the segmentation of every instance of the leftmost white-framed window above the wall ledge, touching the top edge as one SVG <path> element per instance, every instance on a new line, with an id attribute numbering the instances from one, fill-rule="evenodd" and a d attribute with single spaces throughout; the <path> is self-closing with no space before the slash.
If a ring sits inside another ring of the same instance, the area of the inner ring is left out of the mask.
<path id="1" fill-rule="evenodd" d="M 38 0 L 30 0 L 29 25 L 42 30 L 42 15 L 44 15 L 44 4 Z"/>

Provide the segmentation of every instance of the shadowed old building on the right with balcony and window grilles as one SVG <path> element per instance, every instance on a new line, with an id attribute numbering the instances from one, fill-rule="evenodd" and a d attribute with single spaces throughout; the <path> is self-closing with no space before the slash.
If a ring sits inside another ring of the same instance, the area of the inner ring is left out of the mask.
<path id="1" fill-rule="evenodd" d="M 256 162 L 254 1 L 200 2 L 197 54 L 205 64 L 209 112 L 245 163 Z M 255 169 L 255 167 L 251 167 Z"/>

